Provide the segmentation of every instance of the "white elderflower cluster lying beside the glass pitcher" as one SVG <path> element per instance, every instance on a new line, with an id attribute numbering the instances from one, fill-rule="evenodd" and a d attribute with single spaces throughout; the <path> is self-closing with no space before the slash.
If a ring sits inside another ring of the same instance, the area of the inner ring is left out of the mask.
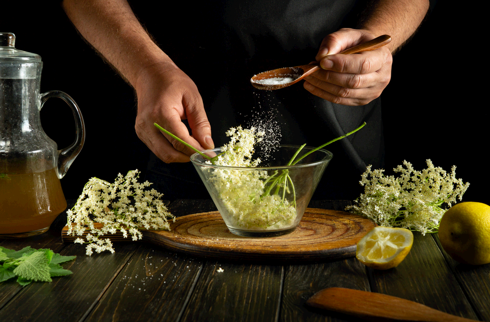
<path id="1" fill-rule="evenodd" d="M 163 194 L 155 189 L 147 190 L 151 183 L 138 183 L 139 171 L 129 171 L 123 177 L 118 174 L 114 183 L 99 178 L 91 178 L 85 184 L 82 194 L 68 214 L 68 235 L 81 236 L 90 230 L 86 241 L 77 238 L 76 243 L 88 243 L 87 255 L 93 251 L 100 253 L 108 250 L 114 253 L 111 241 L 99 239 L 106 234 L 114 234 L 117 230 L 126 238 L 128 232 L 133 240 L 141 239 L 140 229 L 170 230 L 167 219 L 175 216 L 168 212 L 160 200 Z M 96 227 L 94 223 L 101 223 Z"/>

